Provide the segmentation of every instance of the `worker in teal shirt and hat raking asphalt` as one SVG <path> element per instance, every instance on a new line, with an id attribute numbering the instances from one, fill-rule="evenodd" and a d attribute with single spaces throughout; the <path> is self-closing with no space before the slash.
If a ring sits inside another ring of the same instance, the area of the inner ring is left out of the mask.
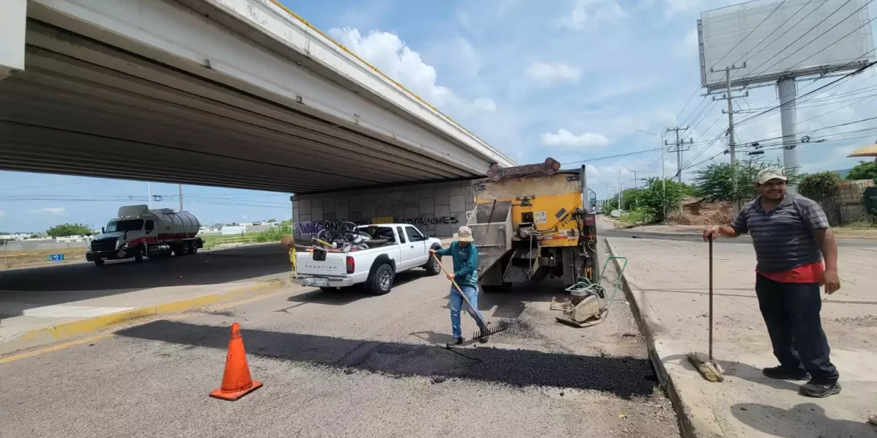
<path id="1" fill-rule="evenodd" d="M 457 240 L 451 244 L 449 248 L 441 250 L 430 250 L 431 253 L 439 256 L 451 256 L 453 258 L 453 273 L 448 273 L 447 278 L 456 280 L 460 290 L 466 293 L 466 298 L 472 303 L 473 307 L 467 310 L 474 318 L 480 329 L 487 329 L 482 326 L 481 321 L 484 316 L 478 311 L 478 249 L 472 244 L 472 230 L 469 227 L 460 227 L 457 232 Z M 457 292 L 456 287 L 451 285 L 451 329 L 453 330 L 454 341 L 448 343 L 448 348 L 454 348 L 463 343 L 463 335 L 460 330 L 460 309 L 463 307 L 463 297 Z M 481 343 L 488 342 L 487 336 L 479 339 Z"/>

